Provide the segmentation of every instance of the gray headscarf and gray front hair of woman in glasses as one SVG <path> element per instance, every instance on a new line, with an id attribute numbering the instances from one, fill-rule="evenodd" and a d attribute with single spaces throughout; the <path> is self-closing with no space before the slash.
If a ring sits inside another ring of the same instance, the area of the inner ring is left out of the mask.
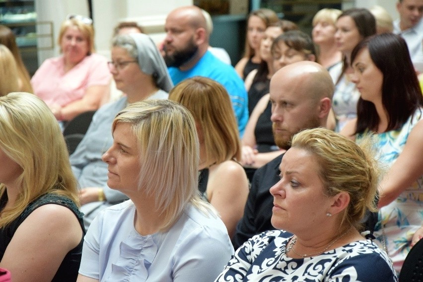
<path id="1" fill-rule="evenodd" d="M 142 72 L 152 75 L 157 83 L 157 86 L 163 91 L 169 92 L 173 88 L 172 79 L 167 71 L 163 57 L 158 51 L 153 40 L 148 35 L 143 33 L 118 35 L 113 40 L 113 46 L 120 46 L 127 49 L 129 53 L 136 58 L 134 56 L 135 52 L 131 52 L 135 50 L 130 50 L 131 48 L 128 46 L 130 42 L 125 40 L 128 36 L 134 40 L 135 45 L 137 46 L 136 54 L 138 57 L 138 65 L 140 66 Z"/>

